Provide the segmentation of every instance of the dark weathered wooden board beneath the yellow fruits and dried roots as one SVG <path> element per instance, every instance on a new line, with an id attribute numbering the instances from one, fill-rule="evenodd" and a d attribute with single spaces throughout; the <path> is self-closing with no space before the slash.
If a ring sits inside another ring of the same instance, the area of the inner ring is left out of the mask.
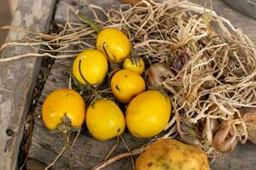
<path id="1" fill-rule="evenodd" d="M 86 16 L 90 16 L 89 10 L 87 7 L 79 7 L 81 4 L 87 4 L 92 2 L 90 0 L 61 0 L 59 6 L 56 10 L 55 20 L 58 22 L 63 22 L 63 18 L 66 17 L 67 12 L 67 3 L 73 4 L 77 8 L 83 8 L 81 10 Z M 93 1 L 101 3 L 102 1 Z M 106 4 L 108 2 L 108 4 Z M 102 7 L 108 7 L 113 4 L 114 1 L 104 1 Z M 218 4 L 222 5 L 220 1 L 216 1 Z M 222 6 L 219 6 L 220 8 Z M 225 6 L 225 8 L 228 8 Z M 87 15 L 88 14 L 88 15 Z M 73 20 L 73 19 L 72 19 Z M 256 27 L 255 27 L 256 28 Z M 35 125 L 34 131 L 32 133 L 32 146 L 29 152 L 29 157 L 27 161 L 28 170 L 41 170 L 47 167 L 51 161 L 55 159 L 55 156 L 61 151 L 63 147 L 63 142 L 61 137 L 49 133 L 49 131 L 44 127 L 44 124 L 40 117 L 41 106 L 44 102 L 45 96 L 57 88 L 67 88 L 68 78 L 70 74 L 70 69 L 72 65 L 72 59 L 56 59 L 55 64 L 52 66 L 50 71 L 49 78 L 45 84 L 43 93 L 38 102 L 38 107 L 34 112 Z M 71 141 L 73 141 L 74 134 Z M 138 146 L 141 146 L 148 142 L 148 140 L 135 139 L 131 137 L 129 133 L 124 134 L 124 138 L 129 148 L 135 149 Z M 83 130 L 82 134 L 79 136 L 79 139 L 75 143 L 72 149 L 72 167 L 73 169 L 90 169 L 95 166 L 98 162 L 101 162 L 104 159 L 104 156 L 108 154 L 108 150 L 115 143 L 115 140 L 110 140 L 107 142 L 97 141 L 92 139 L 86 133 L 86 130 Z M 119 144 L 115 155 L 121 152 L 124 152 L 124 144 Z M 256 147 L 253 144 L 238 145 L 236 150 L 229 154 L 223 154 L 219 156 L 216 161 L 211 164 L 212 170 L 254 170 L 256 167 Z M 67 156 L 66 154 L 62 155 L 60 159 L 55 163 L 55 166 L 51 169 L 66 170 L 67 167 Z M 130 170 L 131 159 L 126 158 L 121 161 L 113 163 L 110 167 L 105 169 L 123 169 Z"/>

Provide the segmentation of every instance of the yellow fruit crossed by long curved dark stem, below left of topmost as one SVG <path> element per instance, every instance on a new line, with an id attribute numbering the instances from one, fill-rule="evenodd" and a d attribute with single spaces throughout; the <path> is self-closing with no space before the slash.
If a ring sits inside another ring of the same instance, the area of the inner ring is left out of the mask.
<path id="1" fill-rule="evenodd" d="M 97 85 L 103 82 L 108 73 L 108 60 L 104 54 L 96 49 L 86 49 L 73 62 L 73 76 L 82 84 L 86 81 L 82 78 L 79 72 L 79 62 L 81 74 L 85 80 L 92 85 Z"/>

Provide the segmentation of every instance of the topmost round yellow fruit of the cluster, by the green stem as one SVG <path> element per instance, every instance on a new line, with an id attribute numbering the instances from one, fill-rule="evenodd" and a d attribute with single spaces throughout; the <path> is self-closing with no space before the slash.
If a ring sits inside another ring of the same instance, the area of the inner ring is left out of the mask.
<path id="1" fill-rule="evenodd" d="M 105 54 L 113 63 L 121 63 L 131 54 L 131 42 L 122 31 L 115 28 L 105 28 L 97 36 L 96 48 Z"/>

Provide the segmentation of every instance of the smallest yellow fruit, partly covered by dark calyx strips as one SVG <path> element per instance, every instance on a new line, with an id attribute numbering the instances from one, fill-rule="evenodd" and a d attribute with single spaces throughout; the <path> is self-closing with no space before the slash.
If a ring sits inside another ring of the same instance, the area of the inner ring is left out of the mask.
<path id="1" fill-rule="evenodd" d="M 137 74 L 141 75 L 145 70 L 145 64 L 143 59 L 140 57 L 126 58 L 125 62 L 123 63 L 123 68 L 134 71 Z"/>

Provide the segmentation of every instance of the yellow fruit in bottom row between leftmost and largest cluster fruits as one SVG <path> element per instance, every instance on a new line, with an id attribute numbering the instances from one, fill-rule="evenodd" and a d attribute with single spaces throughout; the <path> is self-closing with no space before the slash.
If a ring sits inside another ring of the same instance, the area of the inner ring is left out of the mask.
<path id="1" fill-rule="evenodd" d="M 113 139 L 124 132 L 125 116 L 112 100 L 100 99 L 88 107 L 86 125 L 96 139 Z"/>

